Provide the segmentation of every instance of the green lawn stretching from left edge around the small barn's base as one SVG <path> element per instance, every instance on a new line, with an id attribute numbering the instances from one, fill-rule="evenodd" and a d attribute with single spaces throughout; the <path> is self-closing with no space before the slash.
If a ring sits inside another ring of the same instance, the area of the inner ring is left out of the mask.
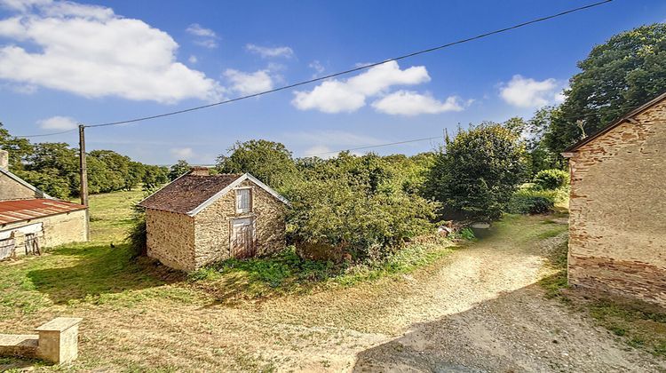
<path id="1" fill-rule="evenodd" d="M 227 260 L 186 275 L 148 258 L 131 258 L 123 240 L 131 226 L 131 206 L 143 195 L 139 190 L 91 195 L 91 242 L 0 264 L 0 321 L 53 306 L 74 313 L 76 306 L 132 307 L 147 298 L 226 303 L 352 286 L 406 274 L 452 250 L 452 242 L 432 239 L 372 266 L 346 266 L 303 260 L 289 249 L 269 258 Z"/>

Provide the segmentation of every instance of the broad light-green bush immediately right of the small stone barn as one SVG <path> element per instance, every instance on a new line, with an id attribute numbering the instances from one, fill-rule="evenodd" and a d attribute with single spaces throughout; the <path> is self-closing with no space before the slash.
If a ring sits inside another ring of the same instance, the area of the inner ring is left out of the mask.
<path id="1" fill-rule="evenodd" d="M 344 153 L 306 159 L 298 167 L 302 179 L 286 192 L 292 203 L 289 236 L 297 244 L 325 244 L 356 259 L 377 259 L 432 230 L 434 204 L 403 190 L 405 179 L 391 161 Z"/>

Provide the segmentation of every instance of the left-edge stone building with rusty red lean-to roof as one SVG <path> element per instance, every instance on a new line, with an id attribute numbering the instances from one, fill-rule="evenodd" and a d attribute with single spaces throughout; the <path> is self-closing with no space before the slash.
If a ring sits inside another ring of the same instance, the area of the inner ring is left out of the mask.
<path id="1" fill-rule="evenodd" d="M 0 259 L 87 240 L 85 206 L 60 201 L 8 170 L 0 150 Z"/>

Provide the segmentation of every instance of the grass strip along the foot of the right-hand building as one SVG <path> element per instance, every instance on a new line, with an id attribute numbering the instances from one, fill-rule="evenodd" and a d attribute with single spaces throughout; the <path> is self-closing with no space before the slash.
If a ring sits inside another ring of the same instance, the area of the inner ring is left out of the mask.
<path id="1" fill-rule="evenodd" d="M 666 313 L 644 302 L 599 297 L 567 286 L 567 242 L 551 253 L 550 266 L 557 271 L 540 284 L 546 297 L 559 298 L 567 305 L 589 314 L 599 326 L 632 347 L 666 358 Z"/>

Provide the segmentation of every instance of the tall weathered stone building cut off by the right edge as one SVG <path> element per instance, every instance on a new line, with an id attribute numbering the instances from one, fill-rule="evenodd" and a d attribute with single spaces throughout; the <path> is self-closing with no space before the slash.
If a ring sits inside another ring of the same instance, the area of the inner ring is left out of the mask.
<path id="1" fill-rule="evenodd" d="M 666 306 L 666 93 L 563 155 L 569 283 Z"/>

